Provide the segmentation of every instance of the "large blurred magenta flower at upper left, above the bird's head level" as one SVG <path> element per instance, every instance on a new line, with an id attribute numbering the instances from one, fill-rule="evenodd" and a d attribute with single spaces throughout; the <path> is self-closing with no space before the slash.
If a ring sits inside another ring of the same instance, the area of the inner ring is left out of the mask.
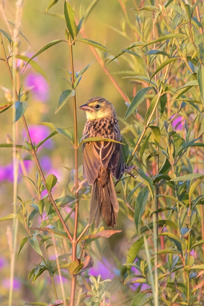
<path id="1" fill-rule="evenodd" d="M 46 101 L 49 98 L 49 85 L 42 75 L 29 73 L 25 84 L 27 87 L 32 87 L 35 99 Z"/>

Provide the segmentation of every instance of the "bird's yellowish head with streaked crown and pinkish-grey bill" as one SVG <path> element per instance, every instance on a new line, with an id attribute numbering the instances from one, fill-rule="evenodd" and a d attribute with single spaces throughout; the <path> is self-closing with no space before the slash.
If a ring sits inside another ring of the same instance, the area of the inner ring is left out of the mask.
<path id="1" fill-rule="evenodd" d="M 116 116 L 113 104 L 102 97 L 91 98 L 79 108 L 80 110 L 85 110 L 87 120 Z"/>

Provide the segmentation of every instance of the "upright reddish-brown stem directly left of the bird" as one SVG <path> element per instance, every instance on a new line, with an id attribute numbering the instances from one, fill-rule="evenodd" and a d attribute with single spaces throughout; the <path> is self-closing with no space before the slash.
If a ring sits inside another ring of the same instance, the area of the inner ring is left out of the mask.
<path id="1" fill-rule="evenodd" d="M 69 34 L 69 52 L 70 52 L 70 63 L 72 72 L 72 87 L 74 85 L 74 62 L 72 52 L 72 40 Z M 76 248 L 77 248 L 77 227 L 78 227 L 78 215 L 79 215 L 79 199 L 78 199 L 78 139 L 77 139 L 77 117 L 76 117 L 76 92 L 73 96 L 73 109 L 74 109 L 74 152 L 75 152 L 75 222 L 74 222 L 74 235 L 72 239 L 72 261 L 76 260 Z M 71 285 L 71 297 L 70 306 L 74 306 L 75 292 L 76 292 L 76 274 L 72 274 L 72 285 Z"/>

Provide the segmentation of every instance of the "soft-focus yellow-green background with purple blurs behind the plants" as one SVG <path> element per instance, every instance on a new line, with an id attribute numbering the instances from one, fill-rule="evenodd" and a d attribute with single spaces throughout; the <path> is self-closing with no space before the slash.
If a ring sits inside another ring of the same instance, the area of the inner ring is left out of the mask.
<path id="1" fill-rule="evenodd" d="M 14 21 L 15 18 L 15 3 L 16 1 L 14 0 L 6 2 L 5 14 L 10 21 Z M 90 3 L 91 0 L 71 1 L 78 21 L 83 16 L 83 12 Z M 20 54 L 30 57 L 51 40 L 65 39 L 65 21 L 51 16 L 51 14 L 63 13 L 63 1 L 59 0 L 53 8 L 45 13 L 47 5 L 48 1 L 45 0 L 24 1 L 22 27 L 24 36 L 29 40 L 30 44 L 20 36 Z M 128 6 L 130 9 L 132 2 L 130 4 L 128 3 Z M 130 16 L 135 23 L 134 11 L 132 11 Z M 99 0 L 86 23 L 83 25 L 83 31 L 87 38 L 101 43 L 113 53 L 117 54 L 120 49 L 130 44 L 131 38 L 134 39 L 133 37 L 127 39 L 109 27 L 109 25 L 111 25 L 112 27 L 120 29 L 123 18 L 124 13 L 117 0 Z M 0 28 L 8 32 L 6 24 L 2 20 L 0 21 Z M 128 35 L 131 35 L 131 32 Z M 8 41 L 5 37 L 3 37 L 3 40 L 8 54 Z M 100 55 L 103 54 L 100 50 L 97 52 Z M 106 56 L 106 61 L 108 61 L 111 57 L 109 54 L 106 54 Z M 0 57 L 3 57 L 2 50 L 0 50 Z M 82 70 L 88 64 L 96 60 L 90 47 L 80 42 L 76 43 L 73 47 L 73 57 L 74 69 L 76 72 Z M 18 61 L 18 68 L 20 75 L 19 85 L 21 86 L 21 84 L 23 84 L 22 89 L 27 90 L 26 103 L 28 106 L 25 118 L 28 123 L 31 138 L 37 143 L 52 132 L 46 126 L 37 125 L 41 122 L 52 122 L 56 127 L 69 127 L 73 132 L 72 99 L 69 99 L 66 105 L 55 114 L 57 101 L 61 92 L 69 88 L 67 82 L 62 79 L 67 77 L 66 73 L 62 69 L 57 68 L 57 66 L 60 66 L 68 71 L 71 70 L 69 46 L 66 43 L 57 44 L 35 58 L 35 61 L 37 61 L 45 71 L 50 84 L 48 84 L 43 76 L 37 73 L 31 66 L 28 65 L 24 70 L 24 63 L 20 60 Z M 120 87 L 132 100 L 134 84 L 129 80 L 124 80 L 120 83 L 121 74 L 117 74 L 117 71 L 127 69 L 127 65 L 122 59 L 119 59 L 119 61 L 120 67 L 118 61 L 114 61 L 108 66 L 108 69 L 110 73 L 113 74 L 113 77 L 117 83 L 119 83 Z M 139 62 L 136 61 L 135 65 L 137 65 L 135 74 L 137 74 L 138 71 L 142 74 L 141 69 L 143 68 L 140 66 Z M 6 65 L 2 61 L 0 61 L 0 72 L 0 100 L 3 103 L 6 102 L 6 98 L 10 95 L 12 87 Z M 76 89 L 77 106 L 86 103 L 88 99 L 94 96 L 102 96 L 113 103 L 120 121 L 120 128 L 123 129 L 124 125 L 120 118 L 124 118 L 127 106 L 124 103 L 124 99 L 97 61 L 83 74 L 80 84 Z M 142 110 L 142 113 L 145 113 L 145 109 Z M 78 108 L 77 117 L 78 138 L 80 139 L 82 137 L 86 117 L 85 113 Z M 12 141 L 12 108 L 0 114 L 0 131 L 0 143 L 9 143 Z M 26 144 L 27 137 L 21 120 L 18 121 L 18 131 L 18 143 Z M 81 152 L 82 147 L 79 149 L 79 166 L 82 164 Z M 36 182 L 37 168 L 35 162 L 30 159 L 30 155 L 27 153 L 23 151 L 21 153 L 21 157 L 24 159 L 26 173 Z M 68 190 L 70 183 L 71 174 L 65 167 L 69 169 L 74 168 L 74 152 L 72 145 L 67 138 L 58 134 L 42 145 L 38 151 L 38 158 L 46 176 L 50 173 L 56 175 L 58 184 L 53 189 L 54 198 L 60 196 L 63 186 L 65 186 L 65 190 Z M 19 166 L 19 174 L 23 173 L 21 166 L 22 163 Z M 25 180 L 19 176 L 18 182 L 18 195 L 20 198 L 23 201 L 31 199 L 33 194 L 28 190 L 28 185 L 25 184 Z M 9 148 L 0 148 L 0 199 L 0 217 L 12 213 L 13 164 L 12 149 Z M 30 205 L 28 205 L 27 208 L 30 212 L 32 208 L 29 206 Z M 69 211 L 64 210 L 64 215 L 67 214 L 67 212 Z M 88 218 L 88 201 L 81 201 L 80 203 L 80 218 Z M 118 305 L 118 303 L 120 305 L 128 305 L 137 288 L 137 285 L 133 284 L 123 285 L 123 273 L 125 269 L 121 266 L 121 263 L 125 263 L 126 261 L 127 251 L 131 245 L 129 243 L 129 238 L 131 238 L 135 232 L 133 218 L 132 222 L 129 220 L 130 219 L 125 217 L 123 212 L 120 211 L 117 229 L 123 230 L 123 232 L 109 239 L 102 238 L 100 241 L 97 241 L 96 245 L 92 243 L 92 249 L 90 250 L 91 256 L 94 259 L 94 267 L 91 269 L 90 274 L 98 276 L 100 273 L 102 279 L 112 279 L 112 282 L 108 283 L 108 291 L 112 293 L 113 304 L 116 305 Z M 40 221 L 41 220 L 35 219 L 33 226 L 38 226 Z M 11 243 L 11 230 L 12 221 L 0 223 L 0 302 L 2 305 L 8 304 L 10 265 L 9 243 Z M 19 224 L 17 248 L 19 248 L 21 239 L 25 236 L 27 236 L 27 232 L 22 224 Z M 60 255 L 59 249 L 58 252 L 58 255 Z M 50 259 L 54 259 L 54 253 L 52 251 L 49 251 L 49 256 Z M 25 244 L 16 261 L 13 305 L 22 305 L 25 302 L 38 300 L 47 303 L 54 301 L 51 281 L 46 272 L 43 273 L 33 285 L 31 281 L 30 284 L 28 284 L 29 272 L 34 265 L 40 263 L 40 261 L 40 256 L 33 251 L 28 243 Z M 89 272 L 84 273 L 86 273 L 86 277 L 88 277 Z M 69 297 L 70 292 L 70 281 L 68 277 L 68 272 L 63 271 L 66 297 Z M 79 277 L 79 282 L 82 282 L 82 284 L 83 282 L 85 283 L 83 284 L 83 291 L 87 291 L 85 279 L 86 278 L 82 279 Z M 57 274 L 54 276 L 54 281 L 56 282 L 57 290 L 60 292 L 59 295 L 61 295 L 59 277 Z"/>

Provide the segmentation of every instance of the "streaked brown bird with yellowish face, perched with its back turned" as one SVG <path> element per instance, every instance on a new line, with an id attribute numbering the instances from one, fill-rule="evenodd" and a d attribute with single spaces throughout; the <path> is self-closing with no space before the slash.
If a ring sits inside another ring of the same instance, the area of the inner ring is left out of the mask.
<path id="1" fill-rule="evenodd" d="M 83 129 L 84 140 L 100 137 L 121 142 L 121 132 L 112 103 L 102 97 L 94 97 L 79 108 L 86 112 L 87 117 Z M 90 225 L 95 220 L 97 228 L 102 216 L 108 227 L 116 226 L 119 204 L 112 177 L 118 181 L 124 171 L 121 143 L 103 140 L 83 143 L 83 177 L 92 185 Z"/>

